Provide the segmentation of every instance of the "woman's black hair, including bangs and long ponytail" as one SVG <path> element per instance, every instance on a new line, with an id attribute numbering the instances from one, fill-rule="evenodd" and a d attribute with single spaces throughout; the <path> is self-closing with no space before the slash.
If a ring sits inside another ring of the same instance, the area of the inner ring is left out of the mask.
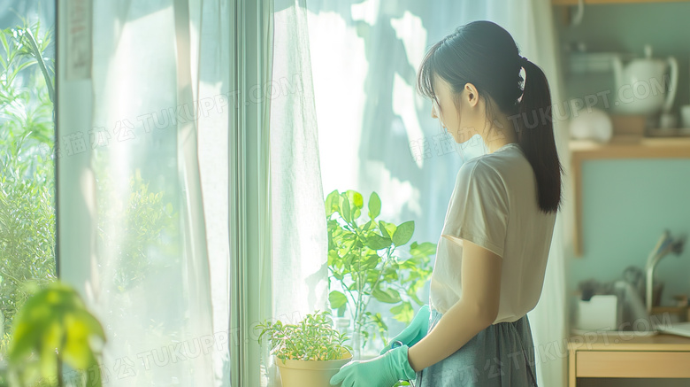
<path id="1" fill-rule="evenodd" d="M 526 80 L 520 75 L 521 68 L 525 69 Z M 419 66 L 418 92 L 436 101 L 434 75 L 449 83 L 456 106 L 465 83 L 470 82 L 487 101 L 487 109 L 492 112 L 487 112 L 487 117 L 493 116 L 496 105 L 510 118 L 536 177 L 540 210 L 557 212 L 562 202 L 563 166 L 549 113 L 548 81 L 539 66 L 519 55 L 510 33 L 487 20 L 457 27 L 433 44 Z"/>

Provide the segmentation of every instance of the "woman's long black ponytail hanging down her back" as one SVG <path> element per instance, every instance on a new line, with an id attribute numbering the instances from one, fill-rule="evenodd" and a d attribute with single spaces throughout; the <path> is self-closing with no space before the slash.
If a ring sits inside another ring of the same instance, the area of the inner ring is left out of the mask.
<path id="1" fill-rule="evenodd" d="M 561 174 L 551 119 L 551 93 L 546 75 L 526 58 L 525 87 L 519 101 L 517 141 L 532 165 L 537 180 L 537 198 L 544 213 L 557 212 L 562 200 Z"/>

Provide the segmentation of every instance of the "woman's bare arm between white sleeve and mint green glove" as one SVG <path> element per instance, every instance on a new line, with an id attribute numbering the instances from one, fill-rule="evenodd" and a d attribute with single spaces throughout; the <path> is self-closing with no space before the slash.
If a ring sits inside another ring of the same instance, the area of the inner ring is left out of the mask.
<path id="1" fill-rule="evenodd" d="M 445 237 L 458 243 L 453 236 Z M 454 306 L 443 313 L 441 321 L 431 332 L 408 351 L 408 361 L 415 372 L 455 353 L 481 330 L 494 323 L 498 315 L 502 258 L 468 240 L 461 241 L 463 294 Z"/>

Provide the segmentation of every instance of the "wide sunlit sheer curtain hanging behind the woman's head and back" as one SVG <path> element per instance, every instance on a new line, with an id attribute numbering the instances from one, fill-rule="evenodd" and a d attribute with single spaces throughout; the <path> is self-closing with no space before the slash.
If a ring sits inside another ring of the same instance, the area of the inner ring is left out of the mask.
<path id="1" fill-rule="evenodd" d="M 307 3 L 324 191 L 353 189 L 365 196 L 378 192 L 381 217 L 395 222 L 414 219 L 418 240 L 438 240 L 457 169 L 464 159 L 486 151 L 479 138 L 465 147 L 442 146 L 443 130 L 431 118 L 431 104 L 415 91 L 418 64 L 428 47 L 466 22 L 493 20 L 510 32 L 523 56 L 545 71 L 553 103 L 563 100 L 548 0 Z M 562 122 L 556 121 L 554 129 L 567 173 L 568 136 Z M 563 181 L 567 190 L 568 175 Z M 529 313 L 538 380 L 544 386 L 564 385 L 567 370 L 567 195 L 563 208 L 556 218 L 540 303 Z M 380 312 L 386 311 L 380 306 Z M 390 332 L 403 329 L 402 323 L 389 321 Z"/>

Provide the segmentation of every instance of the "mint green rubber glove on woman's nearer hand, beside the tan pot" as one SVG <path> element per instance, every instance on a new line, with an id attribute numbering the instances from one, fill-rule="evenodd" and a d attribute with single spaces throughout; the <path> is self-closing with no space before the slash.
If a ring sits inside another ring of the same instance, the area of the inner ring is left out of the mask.
<path id="1" fill-rule="evenodd" d="M 341 387 L 391 387 L 401 380 L 415 380 L 417 373 L 410 366 L 407 351 L 408 346 L 403 345 L 372 360 L 349 361 L 333 375 L 330 384 Z"/>

